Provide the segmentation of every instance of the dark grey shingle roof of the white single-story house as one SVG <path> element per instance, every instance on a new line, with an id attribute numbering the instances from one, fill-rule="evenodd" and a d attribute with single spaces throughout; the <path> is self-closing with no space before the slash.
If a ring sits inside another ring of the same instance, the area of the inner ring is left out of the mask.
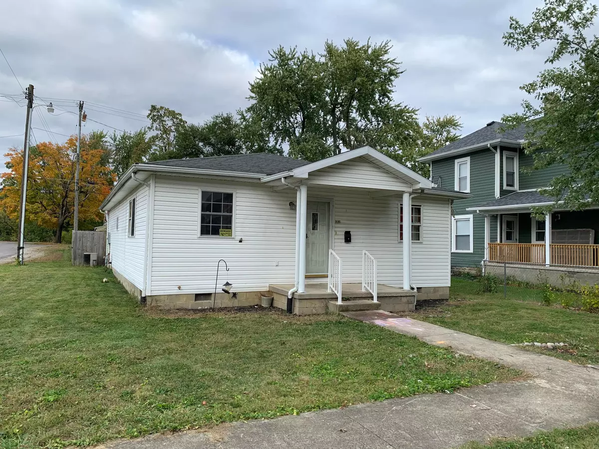
<path id="1" fill-rule="evenodd" d="M 274 175 L 301 167 L 310 162 L 271 153 L 234 154 L 231 156 L 192 157 L 191 159 L 168 159 L 149 162 L 156 165 L 204 170 L 233 171 Z"/>

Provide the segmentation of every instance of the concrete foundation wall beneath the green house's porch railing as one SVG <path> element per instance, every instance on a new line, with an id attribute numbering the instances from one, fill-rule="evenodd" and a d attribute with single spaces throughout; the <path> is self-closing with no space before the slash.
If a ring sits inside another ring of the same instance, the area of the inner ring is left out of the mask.
<path id="1" fill-rule="evenodd" d="M 485 263 L 485 272 L 503 278 L 503 263 Z M 506 274 L 534 284 L 549 283 L 556 287 L 580 284 L 599 284 L 599 269 L 564 266 L 507 264 Z"/>

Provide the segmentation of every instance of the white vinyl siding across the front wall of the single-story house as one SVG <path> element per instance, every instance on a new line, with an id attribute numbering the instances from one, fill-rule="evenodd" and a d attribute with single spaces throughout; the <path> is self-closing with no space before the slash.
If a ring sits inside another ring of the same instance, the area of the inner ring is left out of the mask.
<path id="1" fill-rule="evenodd" d="M 235 192 L 234 239 L 197 237 L 198 189 Z M 397 241 L 401 196 L 371 198 L 362 189 L 308 186 L 308 201 L 323 198 L 333 204 L 332 243 L 343 260 L 343 281 L 361 281 L 362 250 L 367 250 L 377 259 L 379 283 L 401 287 L 403 245 Z M 235 292 L 293 283 L 295 210 L 289 202 L 295 199 L 295 190 L 274 192 L 258 183 L 156 177 L 151 291 L 147 295 L 213 292 L 219 259 L 229 266 L 227 278 Z M 412 247 L 412 283 L 416 287 L 449 286 L 449 201 L 419 199 L 426 238 Z M 344 243 L 346 230 L 352 233 L 349 244 Z"/>

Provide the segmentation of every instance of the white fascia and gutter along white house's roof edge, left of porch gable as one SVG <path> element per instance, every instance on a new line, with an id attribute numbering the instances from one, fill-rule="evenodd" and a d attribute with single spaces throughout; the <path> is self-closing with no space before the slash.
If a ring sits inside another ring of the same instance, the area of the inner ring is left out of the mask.
<path id="1" fill-rule="evenodd" d="M 152 174 L 173 174 L 173 175 L 212 175 L 212 176 L 223 176 L 229 178 L 244 178 L 244 179 L 256 179 L 264 177 L 264 174 L 259 173 L 245 173 L 245 172 L 236 172 L 236 171 L 220 171 L 220 170 L 205 170 L 201 168 L 189 168 L 189 167 L 171 167 L 167 165 L 157 165 L 152 163 L 137 163 L 129 167 L 129 169 L 125 172 L 125 174 L 120 177 L 119 181 L 113 187 L 111 192 L 108 194 L 104 202 L 102 202 L 100 206 L 100 210 L 106 210 L 108 204 L 110 204 L 111 200 L 114 196 L 122 189 L 125 184 L 127 184 L 131 180 L 131 175 L 133 173 L 137 174 L 140 179 L 146 179 Z M 134 181 L 135 182 L 135 181 Z"/>

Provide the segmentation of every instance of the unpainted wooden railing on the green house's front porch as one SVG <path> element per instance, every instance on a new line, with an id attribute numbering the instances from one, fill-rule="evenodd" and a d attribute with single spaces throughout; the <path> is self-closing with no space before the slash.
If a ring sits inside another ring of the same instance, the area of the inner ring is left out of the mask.
<path id="1" fill-rule="evenodd" d="M 550 244 L 550 265 L 599 266 L 599 245 Z M 489 243 L 491 262 L 546 263 L 543 243 Z"/>

